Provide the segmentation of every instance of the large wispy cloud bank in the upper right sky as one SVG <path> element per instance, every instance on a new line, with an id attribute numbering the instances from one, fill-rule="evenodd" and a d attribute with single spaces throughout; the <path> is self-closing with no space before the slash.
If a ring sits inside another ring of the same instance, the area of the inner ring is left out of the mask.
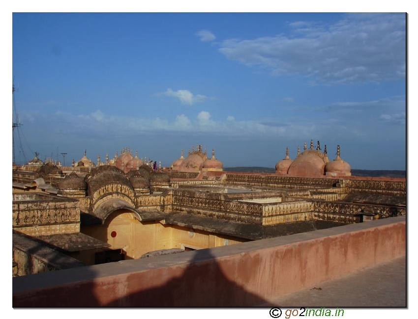
<path id="1" fill-rule="evenodd" d="M 226 39 L 219 52 L 272 74 L 332 83 L 405 78 L 405 14 L 346 14 L 332 25 L 295 22 L 289 35 Z"/>

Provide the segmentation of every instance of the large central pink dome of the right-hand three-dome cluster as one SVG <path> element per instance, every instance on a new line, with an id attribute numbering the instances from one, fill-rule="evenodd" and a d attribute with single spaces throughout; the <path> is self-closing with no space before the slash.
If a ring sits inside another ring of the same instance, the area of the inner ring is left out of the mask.
<path id="1" fill-rule="evenodd" d="M 288 175 L 319 177 L 325 175 L 325 165 L 329 162 L 326 154 L 318 150 L 306 150 L 289 166 Z"/>

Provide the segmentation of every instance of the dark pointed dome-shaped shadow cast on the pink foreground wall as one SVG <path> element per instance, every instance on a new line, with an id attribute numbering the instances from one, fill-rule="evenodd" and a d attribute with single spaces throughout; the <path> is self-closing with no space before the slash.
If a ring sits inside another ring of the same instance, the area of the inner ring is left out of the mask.
<path id="1" fill-rule="evenodd" d="M 200 249 L 194 254 L 185 270 L 170 281 L 154 288 L 144 289 L 107 303 L 107 307 L 237 307 L 268 304 L 266 300 L 247 291 L 228 279 L 211 254 L 211 249 Z M 173 255 L 172 255 L 173 256 Z M 152 257 L 146 259 L 152 264 Z M 173 267 L 171 267 L 172 269 Z M 129 281 L 129 286 L 136 280 L 158 281 L 158 273 L 166 273 L 166 268 L 154 269 L 152 278 L 136 278 Z M 179 270 L 181 271 L 181 270 Z M 255 270 L 257 272 L 257 270 Z M 249 276 L 257 273 L 242 274 L 243 283 Z M 143 286 L 138 283 L 139 286 Z"/>

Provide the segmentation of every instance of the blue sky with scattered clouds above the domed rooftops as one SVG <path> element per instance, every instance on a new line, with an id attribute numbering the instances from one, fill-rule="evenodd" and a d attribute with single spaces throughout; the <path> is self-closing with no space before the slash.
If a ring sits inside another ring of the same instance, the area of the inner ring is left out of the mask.
<path id="1" fill-rule="evenodd" d="M 406 169 L 404 13 L 13 13 L 12 31 L 17 162 L 129 147 L 169 166 L 201 144 L 274 167 L 313 139 Z"/>

